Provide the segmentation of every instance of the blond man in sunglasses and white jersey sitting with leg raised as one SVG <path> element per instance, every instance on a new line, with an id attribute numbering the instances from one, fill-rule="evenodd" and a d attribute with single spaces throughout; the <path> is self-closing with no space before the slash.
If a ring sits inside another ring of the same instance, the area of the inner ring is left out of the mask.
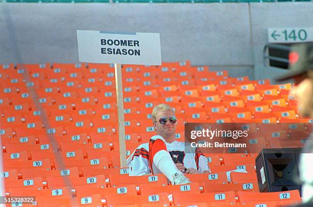
<path id="1" fill-rule="evenodd" d="M 202 152 L 196 149 L 194 153 L 185 153 L 185 143 L 175 141 L 177 119 L 173 108 L 166 104 L 155 106 L 152 122 L 158 135 L 128 157 L 129 175 L 163 173 L 172 185 L 181 185 L 190 182 L 183 173 L 210 172 Z"/>

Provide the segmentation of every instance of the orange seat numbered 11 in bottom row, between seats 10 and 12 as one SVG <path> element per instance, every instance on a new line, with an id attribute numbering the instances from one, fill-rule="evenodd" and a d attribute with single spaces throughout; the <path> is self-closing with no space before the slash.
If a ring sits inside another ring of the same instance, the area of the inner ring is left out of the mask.
<path id="1" fill-rule="evenodd" d="M 235 204 L 235 193 L 233 191 L 219 193 L 204 193 L 204 194 L 186 194 L 173 193 L 173 202 L 175 205 L 194 205 L 198 202 L 227 202 Z"/>

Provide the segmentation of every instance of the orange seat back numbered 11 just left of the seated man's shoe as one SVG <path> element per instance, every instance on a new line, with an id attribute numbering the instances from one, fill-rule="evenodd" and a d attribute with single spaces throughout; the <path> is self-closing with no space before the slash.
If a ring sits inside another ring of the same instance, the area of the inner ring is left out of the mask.
<path id="1" fill-rule="evenodd" d="M 163 174 L 156 175 L 142 175 L 142 176 L 127 176 L 112 174 L 109 175 L 108 184 L 111 187 L 123 186 L 123 185 L 140 185 L 142 183 L 151 183 L 152 186 L 166 186 L 167 178 Z"/>

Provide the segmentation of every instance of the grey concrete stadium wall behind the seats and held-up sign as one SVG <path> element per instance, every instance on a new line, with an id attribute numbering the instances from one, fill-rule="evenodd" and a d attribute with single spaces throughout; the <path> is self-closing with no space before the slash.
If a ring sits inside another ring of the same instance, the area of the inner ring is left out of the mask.
<path id="1" fill-rule="evenodd" d="M 0 64 L 78 62 L 76 30 L 158 32 L 163 61 L 191 60 L 258 79 L 266 29 L 312 27 L 312 9 L 312 3 L 4 3 Z"/>

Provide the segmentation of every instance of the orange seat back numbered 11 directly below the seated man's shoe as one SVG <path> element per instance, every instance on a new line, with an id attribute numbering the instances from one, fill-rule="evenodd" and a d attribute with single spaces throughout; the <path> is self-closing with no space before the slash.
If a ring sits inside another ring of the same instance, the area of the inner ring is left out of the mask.
<path id="1" fill-rule="evenodd" d="M 158 193 L 173 193 L 173 192 L 182 192 L 182 193 L 193 193 L 193 194 L 200 194 L 199 184 L 197 182 L 188 183 L 185 185 L 179 186 L 153 186 L 141 184 L 139 186 L 141 195 L 151 195 L 151 194 L 158 194 Z"/>

